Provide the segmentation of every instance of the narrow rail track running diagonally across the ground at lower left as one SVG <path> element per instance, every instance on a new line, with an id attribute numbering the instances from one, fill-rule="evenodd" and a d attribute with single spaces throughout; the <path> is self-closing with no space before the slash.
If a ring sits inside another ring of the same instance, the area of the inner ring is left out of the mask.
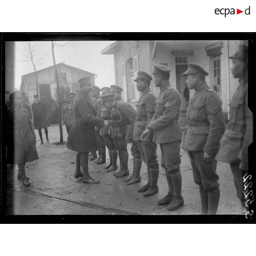
<path id="1" fill-rule="evenodd" d="M 6 188 L 14 189 L 14 190 L 17 190 L 17 191 L 20 190 L 22 192 L 33 194 L 33 195 L 43 196 L 43 197 L 46 197 L 46 198 L 52 198 L 52 199 L 55 199 L 55 200 L 61 200 L 61 201 L 69 202 L 69 203 L 76 204 L 76 205 L 86 206 L 86 207 L 100 209 L 100 210 L 109 211 L 109 212 L 114 212 L 114 213 L 118 213 L 118 214 L 140 215 L 139 213 L 136 213 L 136 212 L 133 212 L 133 211 L 126 211 L 126 210 L 122 210 L 122 209 L 103 206 L 103 205 L 96 204 L 96 203 L 89 202 L 89 201 L 74 200 L 74 199 L 71 199 L 71 198 L 62 197 L 62 196 L 58 196 L 58 195 L 50 195 L 50 194 L 41 192 L 40 190 L 31 189 L 29 187 L 26 188 L 26 187 L 17 186 L 17 185 L 7 183 Z"/>

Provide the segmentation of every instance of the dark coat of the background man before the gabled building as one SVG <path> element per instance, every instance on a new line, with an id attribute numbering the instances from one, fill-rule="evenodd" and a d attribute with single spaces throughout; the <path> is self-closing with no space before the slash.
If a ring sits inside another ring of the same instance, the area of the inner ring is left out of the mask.
<path id="1" fill-rule="evenodd" d="M 38 103 L 34 102 L 31 107 L 33 111 L 35 129 L 49 127 L 48 111 L 45 104 L 41 101 Z"/>

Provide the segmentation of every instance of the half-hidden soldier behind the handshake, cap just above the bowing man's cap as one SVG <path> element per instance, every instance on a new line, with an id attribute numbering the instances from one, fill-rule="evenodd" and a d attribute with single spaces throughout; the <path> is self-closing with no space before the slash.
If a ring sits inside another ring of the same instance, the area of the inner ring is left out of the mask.
<path id="1" fill-rule="evenodd" d="M 106 95 L 107 93 L 109 93 L 109 91 L 110 91 L 109 87 L 101 88 L 102 95 Z M 101 100 L 102 100 L 102 98 L 101 98 Z M 102 100 L 102 106 L 100 109 L 100 118 L 103 120 L 111 120 L 111 106 L 110 106 L 111 104 L 109 104 L 105 98 L 104 98 L 104 100 Z M 110 129 L 109 126 L 103 126 L 103 128 L 100 129 L 100 136 L 102 136 L 105 141 L 105 145 L 108 149 L 108 155 L 109 155 L 109 160 L 110 160 L 109 164 L 103 168 L 106 169 L 107 172 L 112 172 L 112 171 L 117 170 L 118 151 L 114 144 L 113 139 L 111 138 L 111 136 L 109 134 L 109 129 Z"/>

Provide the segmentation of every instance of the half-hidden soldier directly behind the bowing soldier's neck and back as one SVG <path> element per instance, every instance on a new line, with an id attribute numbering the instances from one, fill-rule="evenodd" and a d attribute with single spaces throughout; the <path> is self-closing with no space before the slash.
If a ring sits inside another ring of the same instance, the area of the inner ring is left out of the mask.
<path id="1" fill-rule="evenodd" d="M 122 101 L 121 92 L 122 88 L 117 85 L 111 85 L 110 93 L 114 94 L 114 100 Z M 117 109 L 112 107 L 111 108 L 111 121 L 120 120 L 120 114 L 118 113 Z M 118 156 L 120 160 L 120 170 L 117 173 L 114 173 L 116 178 L 121 178 L 123 176 L 129 175 L 128 171 L 128 151 L 127 151 L 127 143 L 125 141 L 125 136 L 127 133 L 127 126 L 123 127 L 113 127 L 110 126 L 110 135 L 114 141 L 114 144 L 118 151 Z M 121 172 L 122 171 L 122 172 Z"/>

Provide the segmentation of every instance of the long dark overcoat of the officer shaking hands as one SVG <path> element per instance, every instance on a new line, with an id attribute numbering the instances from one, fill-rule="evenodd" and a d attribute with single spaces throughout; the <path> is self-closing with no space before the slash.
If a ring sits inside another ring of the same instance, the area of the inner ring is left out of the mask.
<path id="1" fill-rule="evenodd" d="M 97 112 L 88 94 L 79 90 L 73 102 L 73 120 L 67 137 L 67 148 L 85 153 L 97 150 L 95 126 L 102 128 L 104 121 Z"/>

